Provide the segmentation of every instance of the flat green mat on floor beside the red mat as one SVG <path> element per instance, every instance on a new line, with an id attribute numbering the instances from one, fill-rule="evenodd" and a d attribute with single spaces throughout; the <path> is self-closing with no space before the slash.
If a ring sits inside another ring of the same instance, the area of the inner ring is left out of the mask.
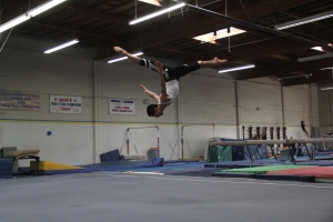
<path id="1" fill-rule="evenodd" d="M 314 165 L 283 164 L 283 165 L 265 165 L 265 167 L 255 167 L 255 168 L 230 169 L 230 170 L 221 170 L 221 172 L 265 174 L 269 171 L 302 169 L 302 168 L 313 168 L 313 167 Z"/>

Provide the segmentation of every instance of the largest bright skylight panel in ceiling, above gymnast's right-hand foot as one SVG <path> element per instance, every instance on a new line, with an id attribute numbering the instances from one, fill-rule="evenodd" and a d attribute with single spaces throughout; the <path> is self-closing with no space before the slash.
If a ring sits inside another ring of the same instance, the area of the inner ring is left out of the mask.
<path id="1" fill-rule="evenodd" d="M 199 40 L 201 42 L 210 42 L 210 43 L 215 44 L 216 39 L 222 39 L 222 38 L 235 36 L 235 34 L 240 34 L 240 33 L 244 33 L 244 32 L 246 32 L 246 31 L 230 27 L 230 29 L 221 29 L 221 30 L 218 30 L 216 32 L 210 32 L 206 34 L 201 34 L 201 36 L 194 37 L 193 39 Z"/>

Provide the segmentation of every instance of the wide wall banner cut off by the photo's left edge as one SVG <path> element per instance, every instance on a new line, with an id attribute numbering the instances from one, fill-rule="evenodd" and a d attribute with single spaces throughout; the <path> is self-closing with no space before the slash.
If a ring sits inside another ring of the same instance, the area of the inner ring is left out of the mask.
<path id="1" fill-rule="evenodd" d="M 39 92 L 0 89 L 0 110 L 40 111 Z"/>

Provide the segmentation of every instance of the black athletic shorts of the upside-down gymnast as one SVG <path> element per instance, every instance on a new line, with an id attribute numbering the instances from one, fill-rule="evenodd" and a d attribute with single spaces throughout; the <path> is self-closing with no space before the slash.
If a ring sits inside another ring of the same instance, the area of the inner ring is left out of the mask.
<path id="1" fill-rule="evenodd" d="M 155 61 L 149 59 L 141 59 L 140 65 L 144 65 L 147 68 L 152 69 L 153 71 L 158 71 Z M 195 71 L 200 69 L 200 64 L 198 62 L 190 63 L 190 64 L 182 64 L 178 67 L 168 67 L 163 64 L 162 74 L 164 77 L 165 82 L 171 80 L 179 80 L 181 77 L 184 77 L 189 72 Z"/>

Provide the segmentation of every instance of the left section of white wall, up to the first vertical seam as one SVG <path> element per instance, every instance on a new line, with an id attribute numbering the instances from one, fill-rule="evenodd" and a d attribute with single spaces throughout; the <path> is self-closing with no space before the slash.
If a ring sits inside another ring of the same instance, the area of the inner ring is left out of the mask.
<path id="1" fill-rule="evenodd" d="M 10 40 L 0 53 L 0 89 L 39 92 L 41 104 L 39 112 L 0 110 L 0 147 L 40 149 L 41 159 L 48 161 L 93 162 L 93 61 L 43 54 L 23 47 L 33 48 L 39 41 Z M 85 54 L 89 50 L 73 51 Z M 82 97 L 83 113 L 50 113 L 50 94 Z M 52 134 L 47 135 L 48 131 Z"/>

